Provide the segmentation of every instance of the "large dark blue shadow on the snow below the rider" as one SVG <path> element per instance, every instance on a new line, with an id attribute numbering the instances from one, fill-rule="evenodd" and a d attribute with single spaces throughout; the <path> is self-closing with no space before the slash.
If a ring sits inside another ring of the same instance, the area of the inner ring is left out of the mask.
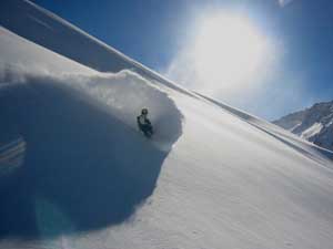
<path id="1" fill-rule="evenodd" d="M 0 136 L 26 144 L 24 163 L 0 178 L 0 239 L 120 224 L 152 194 L 171 148 L 158 149 L 87 97 L 38 80 L 0 91 Z"/>

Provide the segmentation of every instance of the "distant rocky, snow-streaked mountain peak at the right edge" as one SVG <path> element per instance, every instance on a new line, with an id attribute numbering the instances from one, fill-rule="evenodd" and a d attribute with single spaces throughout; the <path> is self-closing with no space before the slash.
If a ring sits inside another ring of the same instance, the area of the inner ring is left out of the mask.
<path id="1" fill-rule="evenodd" d="M 333 151 L 333 102 L 317 103 L 273 122 L 324 148 Z"/>

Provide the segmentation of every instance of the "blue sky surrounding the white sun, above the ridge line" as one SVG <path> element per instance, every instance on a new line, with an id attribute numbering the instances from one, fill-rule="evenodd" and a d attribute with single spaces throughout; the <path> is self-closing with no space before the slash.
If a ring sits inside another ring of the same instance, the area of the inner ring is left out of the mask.
<path id="1" fill-rule="evenodd" d="M 162 73 L 195 37 L 198 17 L 203 12 L 218 9 L 242 13 L 261 33 L 279 44 L 275 72 L 249 94 L 240 90 L 229 96 L 216 91 L 215 98 L 268 120 L 315 102 L 333 100 L 331 0 L 289 0 L 283 1 L 285 4 L 278 0 L 33 2 Z M 173 80 L 179 79 L 174 76 Z"/>

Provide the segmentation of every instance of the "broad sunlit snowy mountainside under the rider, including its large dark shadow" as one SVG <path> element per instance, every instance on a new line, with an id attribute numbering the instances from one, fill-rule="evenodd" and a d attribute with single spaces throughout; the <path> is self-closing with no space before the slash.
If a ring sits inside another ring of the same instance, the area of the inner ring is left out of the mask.
<path id="1" fill-rule="evenodd" d="M 119 53 L 101 73 L 8 31 L 19 22 L 1 21 L 0 248 L 331 248 L 331 152 Z"/>

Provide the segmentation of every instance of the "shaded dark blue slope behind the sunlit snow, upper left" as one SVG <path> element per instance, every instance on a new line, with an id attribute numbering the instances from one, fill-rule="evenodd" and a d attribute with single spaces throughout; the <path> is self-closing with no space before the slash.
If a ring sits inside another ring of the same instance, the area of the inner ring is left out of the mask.
<path id="1" fill-rule="evenodd" d="M 119 72 L 123 69 L 130 69 L 142 76 L 189 93 L 31 1 L 0 1 L 0 13 L 2 27 L 80 64 L 100 72 Z"/>

